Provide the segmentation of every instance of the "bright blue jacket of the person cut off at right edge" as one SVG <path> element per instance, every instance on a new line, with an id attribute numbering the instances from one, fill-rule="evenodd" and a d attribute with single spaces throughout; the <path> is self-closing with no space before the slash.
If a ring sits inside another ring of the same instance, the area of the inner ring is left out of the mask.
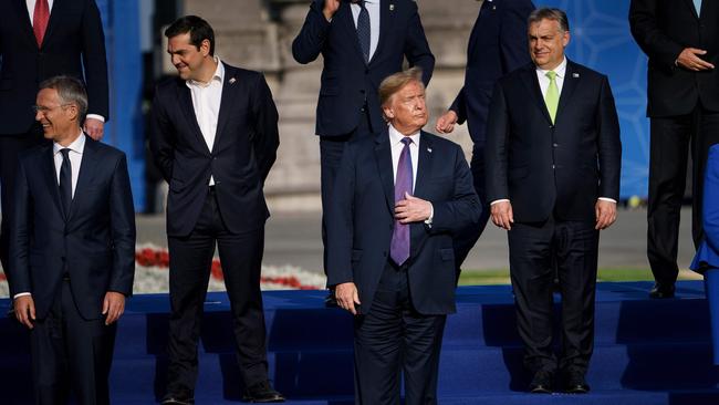
<path id="1" fill-rule="evenodd" d="M 701 224 L 705 238 L 689 268 L 699 272 L 719 268 L 719 144 L 709 148 L 704 180 L 704 211 Z"/>

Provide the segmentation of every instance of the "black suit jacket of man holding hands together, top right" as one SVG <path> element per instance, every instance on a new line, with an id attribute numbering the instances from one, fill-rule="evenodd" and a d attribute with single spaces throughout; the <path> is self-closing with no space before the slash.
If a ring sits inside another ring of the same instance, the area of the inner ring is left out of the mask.
<path id="1" fill-rule="evenodd" d="M 700 56 L 719 66 L 719 2 L 704 0 L 701 14 L 692 0 L 632 0 L 632 34 L 649 56 L 647 115 L 690 113 L 697 103 L 719 111 L 717 69 L 692 72 L 674 64 L 685 48 L 707 51 Z"/>

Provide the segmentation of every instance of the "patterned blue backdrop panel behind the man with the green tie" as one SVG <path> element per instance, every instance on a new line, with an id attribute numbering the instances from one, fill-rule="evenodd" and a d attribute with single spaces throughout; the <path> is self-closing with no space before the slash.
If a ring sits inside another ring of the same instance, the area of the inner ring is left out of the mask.
<path id="1" fill-rule="evenodd" d="M 570 19 L 567 58 L 609 76 L 622 126 L 622 198 L 647 195 L 647 59 L 629 32 L 628 0 L 534 0 Z"/>

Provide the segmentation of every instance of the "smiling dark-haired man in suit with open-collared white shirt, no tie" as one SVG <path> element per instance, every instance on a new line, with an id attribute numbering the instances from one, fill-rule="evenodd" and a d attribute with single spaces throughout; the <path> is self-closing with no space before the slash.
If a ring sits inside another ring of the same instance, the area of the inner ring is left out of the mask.
<path id="1" fill-rule="evenodd" d="M 246 399 L 281 402 L 268 381 L 260 267 L 262 187 L 280 144 L 278 112 L 262 74 L 215 56 L 215 33 L 188 15 L 167 30 L 179 77 L 157 86 L 150 148 L 165 180 L 170 255 L 169 370 L 163 404 L 192 404 L 197 343 L 218 245 Z"/>

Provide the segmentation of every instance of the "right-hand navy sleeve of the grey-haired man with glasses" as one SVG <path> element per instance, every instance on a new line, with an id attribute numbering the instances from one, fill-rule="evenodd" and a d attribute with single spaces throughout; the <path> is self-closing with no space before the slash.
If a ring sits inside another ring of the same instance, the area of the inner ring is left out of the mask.
<path id="1" fill-rule="evenodd" d="M 110 181 L 110 221 L 113 269 L 108 291 L 129 297 L 135 278 L 135 208 L 125 154 L 117 159 Z"/>

